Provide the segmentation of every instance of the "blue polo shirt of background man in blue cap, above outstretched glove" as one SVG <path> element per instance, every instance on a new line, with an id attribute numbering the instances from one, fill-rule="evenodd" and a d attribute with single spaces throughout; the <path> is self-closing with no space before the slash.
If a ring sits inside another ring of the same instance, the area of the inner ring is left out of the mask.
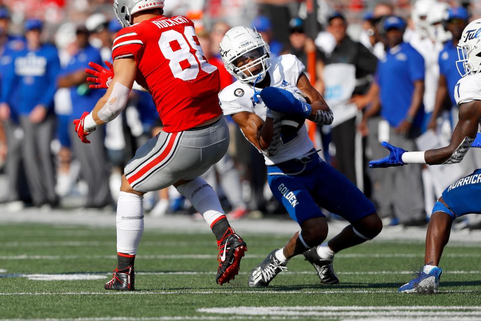
<path id="1" fill-rule="evenodd" d="M 414 82 L 424 80 L 424 58 L 410 44 L 401 43 L 387 51 L 386 57 L 379 60 L 377 83 L 380 88 L 381 115 L 393 127 L 406 118 L 411 106 Z M 424 116 L 421 106 L 413 121 L 419 127 Z"/>

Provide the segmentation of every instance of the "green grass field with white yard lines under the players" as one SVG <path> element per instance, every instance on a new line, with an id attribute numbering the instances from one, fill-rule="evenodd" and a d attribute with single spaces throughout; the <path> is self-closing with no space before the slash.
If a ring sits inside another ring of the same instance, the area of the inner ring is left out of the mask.
<path id="1" fill-rule="evenodd" d="M 0 320 L 481 319 L 481 246 L 446 248 L 436 295 L 396 293 L 424 253 L 422 243 L 400 241 L 338 254 L 339 285 L 321 285 L 297 257 L 268 288 L 251 289 L 247 273 L 288 236 L 243 237 L 249 251 L 240 274 L 219 286 L 212 235 L 146 230 L 137 291 L 125 293 L 103 289 L 116 264 L 114 228 L 0 226 Z"/>

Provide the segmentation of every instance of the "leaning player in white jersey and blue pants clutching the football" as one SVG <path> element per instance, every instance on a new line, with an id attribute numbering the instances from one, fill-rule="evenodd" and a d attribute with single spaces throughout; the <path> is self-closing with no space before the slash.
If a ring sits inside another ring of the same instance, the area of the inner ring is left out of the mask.
<path id="1" fill-rule="evenodd" d="M 372 203 L 322 161 L 309 139 L 305 119 L 330 124 L 332 111 L 311 86 L 304 65 L 293 55 L 271 59 L 269 45 L 256 31 L 230 29 L 220 43 L 220 54 L 237 79 L 219 94 L 222 111 L 264 154 L 274 196 L 301 226 L 284 248 L 273 250 L 251 272 L 249 285 L 267 286 L 287 269 L 291 257 L 301 253 L 322 283 L 338 283 L 334 254 L 374 238 L 382 223 Z M 328 227 L 320 207 L 350 222 L 325 243 Z"/>

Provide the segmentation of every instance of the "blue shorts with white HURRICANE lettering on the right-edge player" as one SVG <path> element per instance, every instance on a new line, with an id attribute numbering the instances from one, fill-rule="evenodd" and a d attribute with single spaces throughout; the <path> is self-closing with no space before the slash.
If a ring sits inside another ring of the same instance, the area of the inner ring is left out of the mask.
<path id="1" fill-rule="evenodd" d="M 481 169 L 449 185 L 442 192 L 442 200 L 448 208 L 437 202 L 432 213 L 440 211 L 452 218 L 471 213 L 481 214 Z"/>

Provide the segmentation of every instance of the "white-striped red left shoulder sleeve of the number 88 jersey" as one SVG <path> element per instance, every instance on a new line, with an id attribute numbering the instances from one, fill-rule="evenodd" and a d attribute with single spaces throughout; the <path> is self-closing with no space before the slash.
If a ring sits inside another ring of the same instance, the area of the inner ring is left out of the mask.
<path id="1" fill-rule="evenodd" d="M 140 62 L 144 52 L 144 42 L 136 29 L 124 28 L 114 40 L 112 46 L 112 59 L 133 57 L 137 63 Z"/>

